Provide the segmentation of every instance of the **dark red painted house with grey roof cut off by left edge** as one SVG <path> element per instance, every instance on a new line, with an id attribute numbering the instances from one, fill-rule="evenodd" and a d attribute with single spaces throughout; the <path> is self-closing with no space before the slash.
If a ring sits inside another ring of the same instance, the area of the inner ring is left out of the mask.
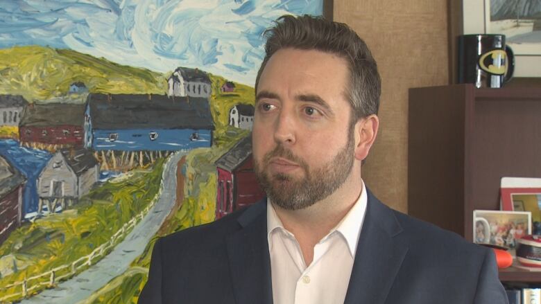
<path id="1" fill-rule="evenodd" d="M 0 156 L 0 244 L 21 224 L 25 179 Z"/>

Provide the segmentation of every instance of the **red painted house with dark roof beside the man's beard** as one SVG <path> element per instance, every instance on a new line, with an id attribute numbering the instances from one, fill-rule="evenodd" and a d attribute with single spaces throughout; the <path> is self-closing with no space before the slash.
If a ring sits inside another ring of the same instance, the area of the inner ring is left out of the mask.
<path id="1" fill-rule="evenodd" d="M 216 220 L 265 197 L 255 179 L 252 136 L 241 139 L 216 161 Z"/>

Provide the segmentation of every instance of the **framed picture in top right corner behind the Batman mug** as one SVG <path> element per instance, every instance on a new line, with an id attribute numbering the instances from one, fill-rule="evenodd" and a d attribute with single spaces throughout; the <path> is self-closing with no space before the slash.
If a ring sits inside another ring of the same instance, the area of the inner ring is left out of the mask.
<path id="1" fill-rule="evenodd" d="M 540 16 L 541 0 L 463 0 L 464 34 L 506 35 L 515 53 L 515 77 L 541 77 Z"/>

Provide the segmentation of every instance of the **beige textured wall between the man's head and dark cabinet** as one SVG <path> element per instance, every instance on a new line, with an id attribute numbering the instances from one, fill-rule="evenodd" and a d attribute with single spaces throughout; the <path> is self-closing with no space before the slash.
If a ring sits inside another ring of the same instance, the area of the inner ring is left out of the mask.
<path id="1" fill-rule="evenodd" d="M 408 89 L 448 83 L 447 0 L 334 0 L 334 20 L 365 39 L 382 79 L 379 135 L 363 179 L 406 212 Z"/>

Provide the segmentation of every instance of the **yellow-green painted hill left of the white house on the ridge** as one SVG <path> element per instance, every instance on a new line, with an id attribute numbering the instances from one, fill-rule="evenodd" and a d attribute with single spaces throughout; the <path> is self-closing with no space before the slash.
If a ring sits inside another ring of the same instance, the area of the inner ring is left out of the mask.
<path id="1" fill-rule="evenodd" d="M 22 95 L 29 102 L 66 96 L 83 82 L 90 93 L 164 94 L 162 73 L 123 66 L 66 49 L 15 46 L 0 49 L 0 94 Z"/>

